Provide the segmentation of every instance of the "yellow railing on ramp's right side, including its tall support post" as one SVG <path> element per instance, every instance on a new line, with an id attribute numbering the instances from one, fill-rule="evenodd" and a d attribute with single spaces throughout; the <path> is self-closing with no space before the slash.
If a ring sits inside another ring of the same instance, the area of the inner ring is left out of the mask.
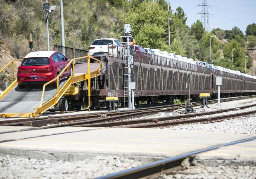
<path id="1" fill-rule="evenodd" d="M 56 83 L 57 83 L 57 94 L 56 94 L 56 96 L 55 96 L 55 99 L 56 99 L 56 98 L 59 98 L 60 96 L 59 96 L 59 80 L 58 80 L 58 79 L 60 78 L 60 76 L 62 75 L 62 73 L 64 73 L 64 71 L 65 71 L 71 64 L 72 64 L 72 68 L 73 68 L 73 76 L 71 76 L 71 78 L 74 78 L 74 77 L 75 77 L 74 61 L 75 61 L 75 60 L 78 60 L 78 59 L 85 59 L 85 58 L 88 59 L 88 72 L 87 72 L 87 73 L 88 73 L 88 107 L 89 107 L 89 110 L 90 110 L 90 58 L 91 58 L 91 59 L 94 59 L 95 61 L 100 62 L 100 71 L 102 70 L 102 64 L 101 64 L 101 61 L 100 61 L 100 60 L 98 60 L 98 59 L 96 59 L 96 58 L 94 58 L 94 57 L 90 57 L 89 53 L 88 53 L 88 55 L 85 56 L 85 57 L 78 57 L 78 58 L 73 58 L 73 59 L 71 59 L 71 61 L 69 61 L 69 63 L 66 65 L 66 67 L 59 73 L 59 75 L 56 76 L 56 78 L 50 80 L 49 82 L 47 82 L 47 83 L 45 83 L 45 84 L 43 85 L 42 97 L 41 97 L 41 101 L 40 101 L 40 106 L 39 106 L 38 108 L 42 108 L 42 106 L 43 106 L 43 98 L 44 98 L 44 94 L 45 94 L 45 87 L 46 87 L 46 85 L 49 85 L 50 83 L 56 81 Z"/>

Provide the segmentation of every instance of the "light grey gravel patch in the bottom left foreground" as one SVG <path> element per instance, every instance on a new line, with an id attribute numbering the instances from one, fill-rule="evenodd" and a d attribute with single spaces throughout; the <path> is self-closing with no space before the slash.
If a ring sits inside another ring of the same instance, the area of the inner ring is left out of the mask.
<path id="1" fill-rule="evenodd" d="M 141 162 L 115 156 L 97 156 L 67 162 L 28 158 L 0 157 L 1 179 L 92 179 L 142 165 Z"/>

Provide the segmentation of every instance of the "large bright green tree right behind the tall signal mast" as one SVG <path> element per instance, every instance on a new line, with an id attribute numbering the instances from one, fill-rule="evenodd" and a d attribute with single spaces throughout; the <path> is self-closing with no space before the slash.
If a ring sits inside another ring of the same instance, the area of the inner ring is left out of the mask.
<path id="1" fill-rule="evenodd" d="M 125 23 L 132 25 L 132 33 L 137 44 L 157 48 L 166 43 L 166 16 L 167 12 L 158 1 L 144 0 L 128 11 Z"/>

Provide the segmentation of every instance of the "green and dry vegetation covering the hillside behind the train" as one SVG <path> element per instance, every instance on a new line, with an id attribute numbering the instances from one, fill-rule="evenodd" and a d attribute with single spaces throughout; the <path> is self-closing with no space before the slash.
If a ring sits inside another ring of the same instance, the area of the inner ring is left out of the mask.
<path id="1" fill-rule="evenodd" d="M 0 0 L 0 66 L 10 59 L 22 58 L 28 52 L 32 33 L 34 51 L 46 50 L 45 0 Z M 59 0 L 49 0 L 57 8 L 50 16 L 50 45 L 61 45 Z M 64 0 L 65 42 L 68 47 L 88 49 L 96 38 L 119 38 L 123 24 L 132 25 L 136 43 L 143 47 L 159 48 L 194 60 L 210 62 L 209 46 L 212 38 L 212 60 L 217 66 L 247 72 L 252 66 L 256 46 L 256 24 L 249 24 L 246 34 L 239 28 L 204 30 L 199 20 L 186 24 L 182 7 L 171 14 L 171 45 L 168 45 L 167 3 L 165 0 Z M 234 50 L 232 64 L 231 49 Z M 249 72 L 250 73 L 250 72 Z M 1 74 L 0 74 L 1 75 Z M 5 75 L 6 76 L 6 75 Z M 7 75 L 8 76 L 8 75 Z M 0 81 L 0 83 L 2 80 Z"/>

